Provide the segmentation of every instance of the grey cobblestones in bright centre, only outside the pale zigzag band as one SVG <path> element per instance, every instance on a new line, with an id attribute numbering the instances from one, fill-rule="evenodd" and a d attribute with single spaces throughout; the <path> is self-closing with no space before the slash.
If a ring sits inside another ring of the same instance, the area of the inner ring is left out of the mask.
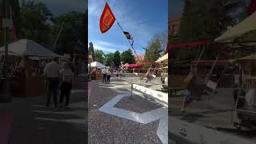
<path id="1" fill-rule="evenodd" d="M 89 143 L 162 143 L 157 135 L 159 121 L 142 124 L 98 110 L 117 95 L 111 86 L 114 84 L 94 82 L 89 104 Z"/>

